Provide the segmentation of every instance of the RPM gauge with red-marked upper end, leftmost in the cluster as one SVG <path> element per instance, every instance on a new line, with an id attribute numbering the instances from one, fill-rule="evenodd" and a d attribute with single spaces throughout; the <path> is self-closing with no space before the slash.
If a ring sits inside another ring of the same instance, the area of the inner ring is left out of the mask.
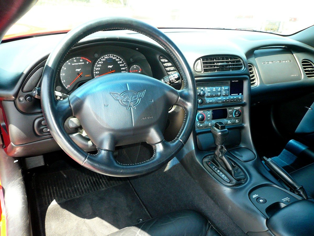
<path id="1" fill-rule="evenodd" d="M 91 61 L 85 57 L 68 59 L 60 71 L 61 83 L 70 91 L 79 81 L 92 78 L 91 69 Z"/>

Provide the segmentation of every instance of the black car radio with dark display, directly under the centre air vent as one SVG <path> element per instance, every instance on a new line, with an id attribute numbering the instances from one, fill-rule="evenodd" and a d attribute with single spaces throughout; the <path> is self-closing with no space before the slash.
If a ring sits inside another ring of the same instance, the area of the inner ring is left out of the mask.
<path id="1" fill-rule="evenodd" d="M 243 100 L 243 81 L 197 83 L 198 106 L 238 103 Z"/>

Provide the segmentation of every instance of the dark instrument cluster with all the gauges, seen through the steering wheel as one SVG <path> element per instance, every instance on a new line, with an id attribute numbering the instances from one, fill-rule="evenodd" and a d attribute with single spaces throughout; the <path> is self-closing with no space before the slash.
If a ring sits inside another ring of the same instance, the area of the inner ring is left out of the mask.
<path id="1" fill-rule="evenodd" d="M 136 48 L 105 45 L 77 48 L 62 63 L 56 91 L 68 94 L 93 78 L 119 72 L 152 76 L 148 61 Z"/>

